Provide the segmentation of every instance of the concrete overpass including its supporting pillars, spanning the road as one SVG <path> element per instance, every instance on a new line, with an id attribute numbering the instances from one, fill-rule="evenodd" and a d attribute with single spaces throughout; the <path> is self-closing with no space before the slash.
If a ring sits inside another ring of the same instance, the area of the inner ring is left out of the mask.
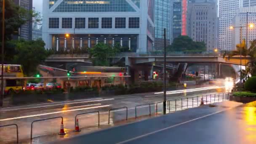
<path id="1" fill-rule="evenodd" d="M 216 64 L 216 69 L 218 75 L 221 75 L 221 68 L 219 64 L 236 64 L 240 65 L 240 56 L 228 57 L 221 56 L 216 53 L 207 53 L 207 54 L 176 54 L 176 53 L 168 53 L 167 55 L 167 64 L 168 65 L 176 65 L 176 67 L 168 67 L 171 69 L 170 73 L 174 80 L 179 80 L 182 73 L 186 71 L 187 67 L 192 64 Z M 153 70 L 157 66 L 162 66 L 164 61 L 164 57 L 162 53 L 152 54 L 152 53 L 120 53 L 118 56 L 112 57 L 112 63 L 115 65 L 125 66 L 128 72 L 128 75 L 131 75 L 132 81 L 138 80 L 138 75 L 141 75 L 139 72 L 142 72 L 142 77 L 144 80 L 148 80 L 148 76 L 151 76 Z M 250 57 L 242 57 L 242 65 L 245 65 L 250 61 Z M 81 65 L 91 66 L 91 59 L 89 54 L 59 54 L 52 55 L 48 57 L 45 61 L 47 65 L 51 64 L 65 64 L 66 68 L 68 65 L 76 64 L 77 67 Z M 185 64 L 185 65 L 184 65 Z M 51 65 L 53 66 L 53 65 Z M 54 66 L 56 67 L 56 66 Z M 163 68 L 158 67 L 157 70 Z M 171 80 L 171 79 L 170 79 Z"/>

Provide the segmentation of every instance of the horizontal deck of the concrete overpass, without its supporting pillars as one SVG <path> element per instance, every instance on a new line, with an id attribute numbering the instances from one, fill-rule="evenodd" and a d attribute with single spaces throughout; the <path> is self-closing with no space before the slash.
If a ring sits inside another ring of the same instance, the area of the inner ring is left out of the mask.
<path id="1" fill-rule="evenodd" d="M 163 55 L 140 54 L 140 53 L 121 53 L 119 56 L 113 58 L 113 62 L 121 62 L 126 66 L 131 64 L 145 64 L 153 62 L 163 62 Z M 219 56 L 218 54 L 168 54 L 167 62 L 169 63 L 223 63 L 223 64 L 237 64 L 240 65 L 240 56 Z M 89 54 L 71 55 L 59 54 L 49 56 L 46 62 L 80 62 L 84 64 L 91 64 Z M 242 56 L 242 65 L 245 65 L 250 60 L 250 57 Z"/>

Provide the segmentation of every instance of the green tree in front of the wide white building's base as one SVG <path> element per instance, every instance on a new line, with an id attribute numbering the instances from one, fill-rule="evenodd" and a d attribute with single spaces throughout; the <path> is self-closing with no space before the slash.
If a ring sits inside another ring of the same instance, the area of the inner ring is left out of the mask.
<path id="1" fill-rule="evenodd" d="M 108 67 L 110 65 L 110 57 L 115 56 L 120 52 L 120 47 L 117 45 L 111 48 L 104 43 L 98 43 L 93 48 L 89 49 L 90 57 L 94 66 Z"/>

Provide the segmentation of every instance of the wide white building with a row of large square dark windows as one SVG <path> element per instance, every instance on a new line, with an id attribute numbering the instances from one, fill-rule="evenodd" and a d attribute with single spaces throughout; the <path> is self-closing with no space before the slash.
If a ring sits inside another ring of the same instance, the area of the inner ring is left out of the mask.
<path id="1" fill-rule="evenodd" d="M 153 51 L 155 0 L 43 0 L 45 48 L 69 51 L 97 43 Z"/>

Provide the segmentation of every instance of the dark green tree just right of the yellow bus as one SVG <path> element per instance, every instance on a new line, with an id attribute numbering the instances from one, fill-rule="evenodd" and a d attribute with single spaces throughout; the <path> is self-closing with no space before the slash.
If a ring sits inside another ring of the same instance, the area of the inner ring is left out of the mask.
<path id="1" fill-rule="evenodd" d="M 37 72 L 37 66 L 45 61 L 50 52 L 45 50 L 43 40 L 19 40 L 15 41 L 16 51 L 13 57 L 13 64 L 21 64 L 24 74 L 30 76 Z"/>

